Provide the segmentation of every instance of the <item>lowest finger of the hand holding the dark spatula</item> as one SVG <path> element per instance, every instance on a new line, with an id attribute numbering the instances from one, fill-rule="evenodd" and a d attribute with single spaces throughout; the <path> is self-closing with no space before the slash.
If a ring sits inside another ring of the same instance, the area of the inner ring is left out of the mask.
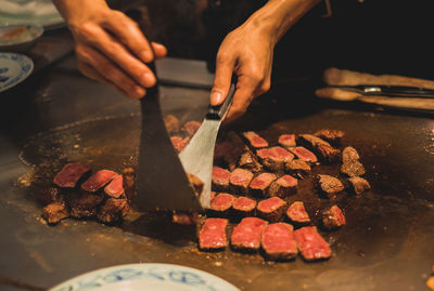
<path id="1" fill-rule="evenodd" d="M 105 83 L 108 82 L 130 98 L 140 98 L 145 95 L 146 91 L 144 88 L 140 87 L 97 50 L 85 45 L 77 45 L 76 53 L 80 69 L 86 76 Z"/>

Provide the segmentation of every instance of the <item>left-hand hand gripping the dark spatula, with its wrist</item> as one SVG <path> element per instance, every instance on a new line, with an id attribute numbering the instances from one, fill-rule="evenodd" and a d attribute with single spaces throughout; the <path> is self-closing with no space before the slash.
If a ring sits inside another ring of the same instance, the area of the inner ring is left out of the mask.
<path id="1" fill-rule="evenodd" d="M 156 79 L 145 63 L 154 55 L 136 22 L 104 0 L 53 0 L 73 32 L 78 67 L 130 98 L 143 97 Z M 151 43 L 155 57 L 167 50 Z"/>

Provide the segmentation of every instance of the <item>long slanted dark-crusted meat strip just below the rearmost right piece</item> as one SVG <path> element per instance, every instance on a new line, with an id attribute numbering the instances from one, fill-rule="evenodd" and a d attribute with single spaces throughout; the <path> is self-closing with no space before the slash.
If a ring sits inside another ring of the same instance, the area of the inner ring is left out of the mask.
<path id="1" fill-rule="evenodd" d="M 341 158 L 340 149 L 333 148 L 328 142 L 322 141 L 315 135 L 301 134 L 299 143 L 305 147 L 311 149 L 323 162 L 337 162 Z"/>

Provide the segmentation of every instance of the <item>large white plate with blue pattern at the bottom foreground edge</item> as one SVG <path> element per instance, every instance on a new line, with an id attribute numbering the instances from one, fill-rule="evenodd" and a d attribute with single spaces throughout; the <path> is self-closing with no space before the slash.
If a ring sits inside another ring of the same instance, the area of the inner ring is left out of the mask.
<path id="1" fill-rule="evenodd" d="M 240 291 L 206 272 L 171 264 L 130 264 L 75 277 L 49 291 Z"/>

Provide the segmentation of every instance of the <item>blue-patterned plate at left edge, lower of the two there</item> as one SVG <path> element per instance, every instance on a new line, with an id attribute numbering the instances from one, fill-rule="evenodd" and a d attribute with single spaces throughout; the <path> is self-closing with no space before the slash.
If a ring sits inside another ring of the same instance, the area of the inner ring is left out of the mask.
<path id="1" fill-rule="evenodd" d="M 0 92 L 24 81 L 34 70 L 34 62 L 25 55 L 0 53 Z"/>

